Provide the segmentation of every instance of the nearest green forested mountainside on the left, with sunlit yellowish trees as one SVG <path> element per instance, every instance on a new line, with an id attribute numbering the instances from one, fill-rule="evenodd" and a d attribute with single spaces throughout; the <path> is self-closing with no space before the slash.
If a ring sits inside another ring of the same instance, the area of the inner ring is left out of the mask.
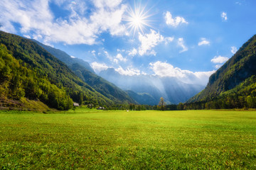
<path id="1" fill-rule="evenodd" d="M 36 42 L 3 31 L 0 31 L 0 78 L 1 106 L 23 107 L 31 100 L 59 110 L 71 108 L 73 101 L 114 104 Z"/>

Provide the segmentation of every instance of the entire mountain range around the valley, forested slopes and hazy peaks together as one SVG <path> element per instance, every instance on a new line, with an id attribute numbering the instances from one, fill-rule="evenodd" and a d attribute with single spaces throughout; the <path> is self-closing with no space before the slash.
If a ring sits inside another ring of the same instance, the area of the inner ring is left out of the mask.
<path id="1" fill-rule="evenodd" d="M 164 97 L 166 104 L 183 109 L 256 108 L 255 64 L 256 35 L 210 76 L 204 89 L 174 77 L 127 76 L 112 68 L 97 75 L 89 63 L 61 50 L 0 31 L 0 107 L 68 110 L 78 102 L 111 108 L 157 105 Z"/>

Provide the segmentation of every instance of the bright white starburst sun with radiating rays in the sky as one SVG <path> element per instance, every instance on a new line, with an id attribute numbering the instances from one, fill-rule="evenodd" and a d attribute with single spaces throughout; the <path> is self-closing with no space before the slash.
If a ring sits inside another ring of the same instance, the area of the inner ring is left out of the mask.
<path id="1" fill-rule="evenodd" d="M 124 16 L 124 21 L 127 22 L 126 26 L 128 30 L 132 30 L 133 33 L 144 33 L 146 27 L 152 27 L 149 18 L 152 14 L 149 11 L 145 11 L 145 7 L 134 5 L 134 8 L 130 7 L 127 10 L 127 15 Z"/>

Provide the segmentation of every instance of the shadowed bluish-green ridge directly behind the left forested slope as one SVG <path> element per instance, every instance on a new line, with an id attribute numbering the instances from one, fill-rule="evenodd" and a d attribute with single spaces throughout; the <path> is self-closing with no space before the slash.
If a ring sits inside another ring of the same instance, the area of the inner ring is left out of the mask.
<path id="1" fill-rule="evenodd" d="M 95 89 L 103 96 L 110 98 L 117 103 L 135 103 L 135 101 L 130 98 L 125 91 L 122 91 L 122 89 L 119 89 L 114 84 L 105 79 L 102 79 L 102 77 L 99 77 L 97 74 L 95 74 L 94 70 L 92 67 L 90 67 L 88 62 L 78 58 L 70 57 L 70 55 L 67 53 L 48 45 L 43 45 L 41 42 L 36 40 L 33 41 L 38 43 L 38 45 L 41 45 L 41 47 L 50 52 L 50 54 L 52 54 L 54 57 L 67 64 L 68 67 L 73 70 L 73 72 L 75 72 L 75 74 L 80 77 L 80 79 L 82 79 L 82 81 L 92 86 L 93 89 Z"/>

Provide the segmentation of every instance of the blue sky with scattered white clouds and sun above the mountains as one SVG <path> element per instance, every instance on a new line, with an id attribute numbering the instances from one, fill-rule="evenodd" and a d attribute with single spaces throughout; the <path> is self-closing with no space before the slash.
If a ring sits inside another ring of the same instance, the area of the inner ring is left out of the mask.
<path id="1" fill-rule="evenodd" d="M 1 0 L 0 30 L 89 62 L 96 73 L 208 77 L 256 33 L 255 0 Z"/>

